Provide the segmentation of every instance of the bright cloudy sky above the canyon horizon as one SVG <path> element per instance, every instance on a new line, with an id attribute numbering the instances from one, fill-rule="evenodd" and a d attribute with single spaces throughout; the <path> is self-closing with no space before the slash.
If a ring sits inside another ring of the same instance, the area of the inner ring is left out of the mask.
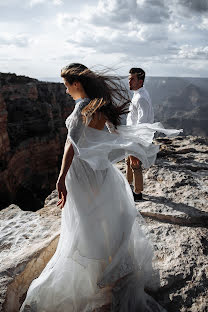
<path id="1" fill-rule="evenodd" d="M 208 77 L 208 0 L 0 0 L 0 72 L 59 79 L 72 62 Z"/>

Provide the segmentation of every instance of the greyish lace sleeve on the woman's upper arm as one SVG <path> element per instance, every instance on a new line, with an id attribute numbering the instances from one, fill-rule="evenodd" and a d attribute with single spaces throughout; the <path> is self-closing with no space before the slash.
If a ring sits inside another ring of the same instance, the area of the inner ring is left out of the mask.
<path id="1" fill-rule="evenodd" d="M 71 115 L 66 119 L 66 127 L 68 129 L 67 141 L 70 141 L 74 146 L 79 142 L 85 124 L 82 119 L 82 109 L 89 104 L 89 99 L 82 99 L 76 103 Z"/>

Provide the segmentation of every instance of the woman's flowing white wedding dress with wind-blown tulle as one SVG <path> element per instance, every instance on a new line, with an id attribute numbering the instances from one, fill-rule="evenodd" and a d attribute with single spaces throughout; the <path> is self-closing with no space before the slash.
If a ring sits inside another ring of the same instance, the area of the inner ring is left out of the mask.
<path id="1" fill-rule="evenodd" d="M 131 188 L 113 163 L 134 155 L 149 167 L 158 152 L 154 132 L 179 131 L 158 123 L 120 126 L 117 133 L 96 130 L 82 122 L 88 103 L 78 101 L 66 120 L 75 155 L 58 247 L 20 311 L 92 312 L 108 303 L 114 312 L 164 311 L 144 292 L 154 283 L 152 245 Z"/>

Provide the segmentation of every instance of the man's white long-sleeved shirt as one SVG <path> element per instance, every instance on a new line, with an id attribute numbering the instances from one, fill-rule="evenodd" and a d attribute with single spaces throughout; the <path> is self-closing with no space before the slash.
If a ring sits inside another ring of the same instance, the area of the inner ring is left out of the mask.
<path id="1" fill-rule="evenodd" d="M 127 126 L 135 126 L 139 123 L 153 123 L 154 111 L 149 93 L 145 87 L 141 87 L 134 91 L 129 113 L 127 115 Z"/>

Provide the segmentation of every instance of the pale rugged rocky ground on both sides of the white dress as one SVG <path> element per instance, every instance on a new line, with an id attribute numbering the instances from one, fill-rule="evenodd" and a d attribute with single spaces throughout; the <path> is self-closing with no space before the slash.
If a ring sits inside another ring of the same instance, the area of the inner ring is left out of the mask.
<path id="1" fill-rule="evenodd" d="M 144 200 L 136 203 L 160 271 L 160 287 L 151 295 L 168 312 L 206 312 L 208 140 L 178 137 L 158 142 L 157 162 L 144 171 Z M 124 172 L 123 162 L 117 166 Z M 54 191 L 37 212 L 15 205 L 0 212 L 0 311 L 18 311 L 30 282 L 53 255 L 61 215 L 56 202 Z"/>

